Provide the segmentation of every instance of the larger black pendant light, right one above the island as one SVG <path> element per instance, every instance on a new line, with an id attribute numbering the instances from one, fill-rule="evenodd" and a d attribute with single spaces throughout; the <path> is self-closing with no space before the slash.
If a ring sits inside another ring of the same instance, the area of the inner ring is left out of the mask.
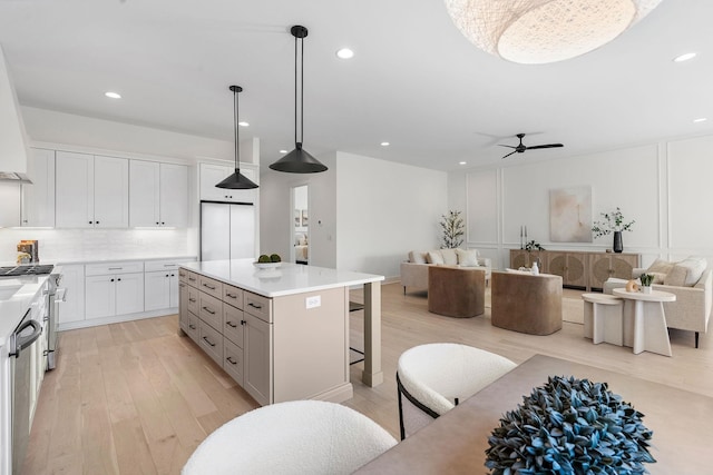
<path id="1" fill-rule="evenodd" d="M 270 166 L 273 170 L 289 174 L 316 174 L 326 171 L 326 167 L 302 148 L 304 139 L 304 38 L 307 29 L 294 26 L 290 29 L 294 37 L 294 150 Z M 297 41 L 301 41 L 300 55 L 300 139 L 297 140 Z"/>

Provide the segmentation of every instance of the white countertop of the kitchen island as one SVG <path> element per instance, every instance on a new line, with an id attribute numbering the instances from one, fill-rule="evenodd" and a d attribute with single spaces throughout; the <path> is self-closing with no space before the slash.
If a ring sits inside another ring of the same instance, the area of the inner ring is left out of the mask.
<path id="1" fill-rule="evenodd" d="M 384 279 L 383 276 L 374 274 L 292 263 L 282 263 L 275 269 L 258 269 L 253 265 L 253 259 L 206 260 L 182 264 L 180 267 L 265 297 L 281 297 Z"/>

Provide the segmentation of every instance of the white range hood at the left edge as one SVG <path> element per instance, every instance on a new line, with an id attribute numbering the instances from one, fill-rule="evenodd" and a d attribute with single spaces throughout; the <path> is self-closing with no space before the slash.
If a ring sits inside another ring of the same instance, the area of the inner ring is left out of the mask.
<path id="1" fill-rule="evenodd" d="M 25 125 L 4 52 L 0 46 L 0 181 L 31 182 L 27 177 Z"/>

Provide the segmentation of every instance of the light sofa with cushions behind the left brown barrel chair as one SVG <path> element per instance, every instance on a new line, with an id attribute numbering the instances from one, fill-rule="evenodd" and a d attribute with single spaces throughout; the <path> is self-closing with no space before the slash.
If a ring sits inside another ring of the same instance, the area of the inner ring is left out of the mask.
<path id="1" fill-rule="evenodd" d="M 434 249 L 430 251 L 410 251 L 409 260 L 401 263 L 401 285 L 403 286 L 403 294 L 406 294 L 407 287 L 409 290 L 428 290 L 428 268 L 430 266 L 460 266 L 460 267 L 477 267 L 482 268 L 486 271 L 486 285 L 490 280 L 490 273 L 492 269 L 491 260 L 485 257 L 478 256 L 476 249 L 459 249 L 461 253 L 456 254 L 455 249 Z M 446 251 L 446 253 L 443 253 Z M 451 255 L 453 251 L 453 255 Z M 466 254 L 469 253 L 468 256 Z M 472 253 L 476 255 L 473 256 Z M 446 254 L 446 256 L 443 256 Z M 459 263 L 458 255 L 460 254 L 461 260 Z M 441 256 L 442 261 L 438 259 L 429 259 L 438 255 Z M 429 260 L 432 260 L 429 263 Z"/>

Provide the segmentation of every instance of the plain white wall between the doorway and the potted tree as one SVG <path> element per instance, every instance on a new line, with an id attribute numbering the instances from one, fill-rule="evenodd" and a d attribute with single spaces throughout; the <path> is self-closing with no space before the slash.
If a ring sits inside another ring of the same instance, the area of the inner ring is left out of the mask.
<path id="1" fill-rule="evenodd" d="M 446 172 L 343 152 L 336 164 L 338 268 L 397 278 L 409 250 L 440 247 Z"/>

